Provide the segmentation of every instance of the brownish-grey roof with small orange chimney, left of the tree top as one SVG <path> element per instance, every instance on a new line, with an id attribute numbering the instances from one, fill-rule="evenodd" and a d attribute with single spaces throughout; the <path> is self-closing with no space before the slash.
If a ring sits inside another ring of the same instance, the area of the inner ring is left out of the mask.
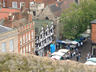
<path id="1" fill-rule="evenodd" d="M 55 16 L 60 16 L 61 13 L 71 7 L 70 5 L 72 4 L 72 0 L 63 0 L 60 2 L 56 2 L 55 4 L 51 4 L 49 5 L 49 8 L 51 10 L 51 12 L 55 15 Z"/>

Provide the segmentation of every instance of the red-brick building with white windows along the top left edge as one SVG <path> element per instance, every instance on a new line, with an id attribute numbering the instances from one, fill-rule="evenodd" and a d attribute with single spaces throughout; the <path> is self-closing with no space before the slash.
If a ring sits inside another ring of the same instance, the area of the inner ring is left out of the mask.
<path id="1" fill-rule="evenodd" d="M 31 5 L 36 3 L 44 3 L 45 5 L 55 3 L 57 0 L 0 0 L 2 7 L 7 8 L 21 8 L 22 5 L 25 5 L 26 8 L 29 8 Z"/>

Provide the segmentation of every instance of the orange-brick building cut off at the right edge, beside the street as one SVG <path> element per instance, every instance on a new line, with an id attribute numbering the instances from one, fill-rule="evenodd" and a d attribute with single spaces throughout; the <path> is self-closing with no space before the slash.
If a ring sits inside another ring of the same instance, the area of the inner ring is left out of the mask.
<path id="1" fill-rule="evenodd" d="M 92 54 L 96 56 L 96 19 L 91 21 Z"/>

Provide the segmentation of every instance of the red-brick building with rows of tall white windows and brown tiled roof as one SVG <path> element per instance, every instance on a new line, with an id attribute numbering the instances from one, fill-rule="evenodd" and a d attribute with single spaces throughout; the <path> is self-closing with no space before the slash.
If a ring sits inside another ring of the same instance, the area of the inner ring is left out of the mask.
<path id="1" fill-rule="evenodd" d="M 5 11 L 6 9 L 2 13 Z M 7 9 L 5 13 L 8 14 L 8 17 L 3 18 L 2 25 L 18 31 L 18 53 L 33 53 L 35 48 L 35 30 L 32 15 L 28 11 L 12 11 L 14 9 Z"/>

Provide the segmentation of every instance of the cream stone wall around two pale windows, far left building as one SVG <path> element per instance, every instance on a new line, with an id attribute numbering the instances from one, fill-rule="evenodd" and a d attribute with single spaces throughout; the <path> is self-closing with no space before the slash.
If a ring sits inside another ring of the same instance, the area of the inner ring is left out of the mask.
<path id="1" fill-rule="evenodd" d="M 18 53 L 18 35 L 17 30 L 13 30 L 7 33 L 0 34 L 0 52 L 2 48 L 2 43 L 6 42 L 6 52 L 10 52 L 10 40 L 14 42 L 14 52 Z"/>

